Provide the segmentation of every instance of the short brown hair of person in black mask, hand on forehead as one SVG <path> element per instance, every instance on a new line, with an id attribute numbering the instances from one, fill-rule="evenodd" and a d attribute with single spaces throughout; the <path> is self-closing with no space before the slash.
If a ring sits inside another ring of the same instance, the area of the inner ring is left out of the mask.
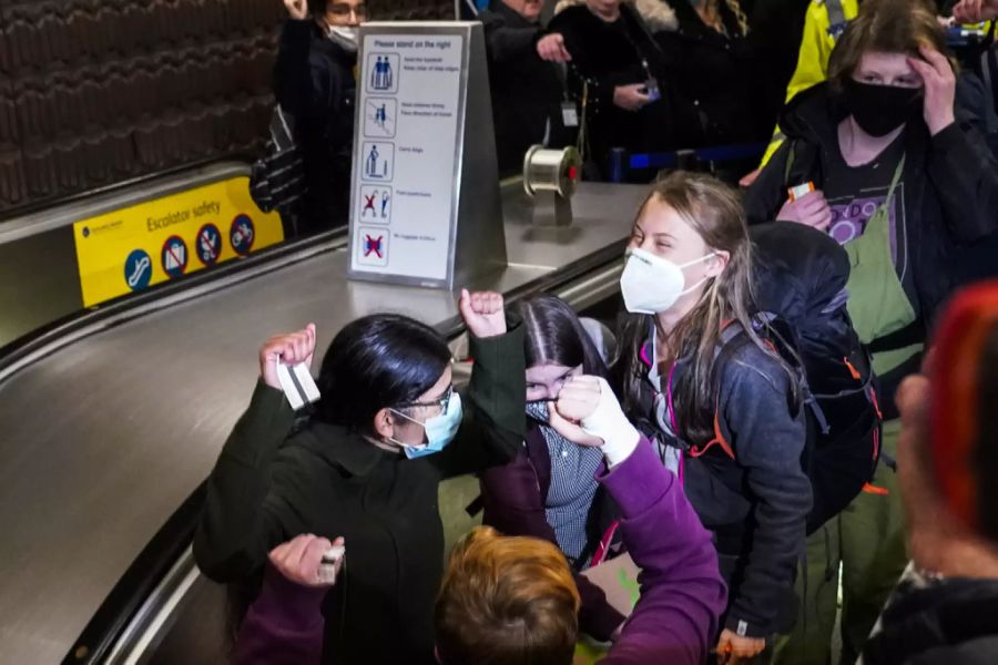
<path id="1" fill-rule="evenodd" d="M 828 60 L 828 83 L 841 92 L 863 54 L 869 51 L 908 53 L 920 58 L 919 47 L 948 55 L 946 33 L 924 0 L 867 0 L 846 28 Z M 950 58 L 950 64 L 955 62 Z"/>

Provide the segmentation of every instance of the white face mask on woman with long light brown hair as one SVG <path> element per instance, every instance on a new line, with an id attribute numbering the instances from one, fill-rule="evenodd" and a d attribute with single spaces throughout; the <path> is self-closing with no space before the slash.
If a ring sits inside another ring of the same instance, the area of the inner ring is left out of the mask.
<path id="1" fill-rule="evenodd" d="M 631 314 L 660 314 L 669 310 L 675 301 L 709 279 L 704 277 L 686 288 L 683 268 L 699 264 L 714 256 L 714 252 L 690 263 L 676 265 L 668 258 L 655 256 L 644 249 L 630 249 L 624 272 L 620 276 L 620 290 L 624 307 Z"/>

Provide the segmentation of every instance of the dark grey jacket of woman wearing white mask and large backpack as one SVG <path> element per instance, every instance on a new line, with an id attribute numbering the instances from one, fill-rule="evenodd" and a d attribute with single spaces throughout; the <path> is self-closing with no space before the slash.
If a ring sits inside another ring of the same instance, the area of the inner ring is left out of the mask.
<path id="1" fill-rule="evenodd" d="M 641 351 L 651 370 L 649 340 Z M 713 532 L 721 574 L 729 585 L 724 627 L 740 635 L 786 633 L 796 620 L 794 580 L 804 552 L 811 482 L 801 466 L 805 416 L 792 403 L 791 382 L 776 360 L 754 344 L 719 356 L 717 427 L 734 459 L 720 444 L 685 442 L 658 424 L 655 391 L 642 378 L 632 420 L 660 450 L 683 451 L 680 477 L 703 525 Z M 689 361 L 673 376 L 679 386 Z M 668 369 L 662 372 L 665 388 Z M 682 423 L 678 423 L 682 427 Z"/>

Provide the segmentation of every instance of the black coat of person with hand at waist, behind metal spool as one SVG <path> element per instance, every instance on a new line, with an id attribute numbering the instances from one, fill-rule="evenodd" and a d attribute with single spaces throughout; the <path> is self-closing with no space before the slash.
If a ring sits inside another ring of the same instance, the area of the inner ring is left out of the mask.
<path id="1" fill-rule="evenodd" d="M 613 147 L 628 152 L 675 147 L 673 92 L 662 50 L 632 7 L 620 6 L 620 20 L 625 31 L 607 23 L 584 4 L 577 4 L 558 13 L 548 25 L 550 32 L 564 37 L 572 57 L 569 85 L 577 99 L 581 99 L 582 82 L 589 82 L 589 156 L 600 165 L 603 177 Z M 662 99 L 637 112 L 613 104 L 615 86 L 645 83 L 649 73 L 658 80 Z"/>

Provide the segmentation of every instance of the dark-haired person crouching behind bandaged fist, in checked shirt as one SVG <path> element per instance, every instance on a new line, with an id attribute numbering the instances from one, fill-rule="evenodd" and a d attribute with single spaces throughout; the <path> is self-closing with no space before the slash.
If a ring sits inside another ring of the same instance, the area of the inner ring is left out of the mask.
<path id="1" fill-rule="evenodd" d="M 527 331 L 527 436 L 512 462 L 481 474 L 482 521 L 507 535 L 556 543 L 579 573 L 597 554 L 615 510 L 595 480 L 602 451 L 559 434 L 549 424 L 548 408 L 572 377 L 607 378 L 607 365 L 563 300 L 537 296 L 517 310 Z M 623 615 L 585 577 L 577 574 L 576 585 L 582 596 L 580 628 L 597 640 L 610 640 Z"/>

